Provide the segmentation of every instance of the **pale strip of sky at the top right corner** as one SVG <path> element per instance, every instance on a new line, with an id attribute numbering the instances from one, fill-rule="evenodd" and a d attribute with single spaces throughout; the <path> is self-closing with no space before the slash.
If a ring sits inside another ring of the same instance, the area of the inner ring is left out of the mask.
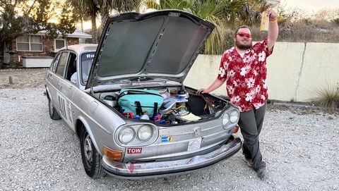
<path id="1" fill-rule="evenodd" d="M 324 8 L 339 8 L 338 0 L 280 0 L 290 8 L 302 8 L 305 11 L 319 11 Z"/>

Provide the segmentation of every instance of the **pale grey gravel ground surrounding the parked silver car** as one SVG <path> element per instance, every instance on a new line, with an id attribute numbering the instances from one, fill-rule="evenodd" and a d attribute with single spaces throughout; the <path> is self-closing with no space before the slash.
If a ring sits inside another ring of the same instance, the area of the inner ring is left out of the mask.
<path id="1" fill-rule="evenodd" d="M 292 107 L 266 113 L 266 180 L 246 166 L 241 152 L 187 175 L 92 180 L 83 170 L 78 137 L 63 121 L 49 118 L 39 80 L 45 71 L 25 71 L 29 85 L 7 86 L 0 71 L 0 190 L 339 190 L 338 114 Z"/>

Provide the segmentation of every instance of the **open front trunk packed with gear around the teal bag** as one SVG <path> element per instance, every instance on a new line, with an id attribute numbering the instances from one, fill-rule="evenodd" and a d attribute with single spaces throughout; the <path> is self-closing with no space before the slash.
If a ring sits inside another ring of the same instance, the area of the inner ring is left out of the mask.
<path id="1" fill-rule="evenodd" d="M 131 90 L 131 89 L 129 89 Z M 120 90 L 95 92 L 95 97 L 109 106 L 122 118 L 132 121 L 148 121 L 160 126 L 172 126 L 187 123 L 198 123 L 213 118 L 219 118 L 222 111 L 230 107 L 230 103 L 224 99 L 214 97 L 210 94 L 196 94 L 191 87 L 169 86 L 169 87 L 145 87 L 133 90 L 155 90 L 163 98 L 163 102 L 156 113 L 148 109 L 148 113 L 137 113 L 137 111 L 124 112 L 124 106 L 119 105 Z M 143 100 L 141 109 L 143 109 Z M 145 106 L 150 107 L 150 106 Z M 136 109 L 137 110 L 137 109 Z"/>

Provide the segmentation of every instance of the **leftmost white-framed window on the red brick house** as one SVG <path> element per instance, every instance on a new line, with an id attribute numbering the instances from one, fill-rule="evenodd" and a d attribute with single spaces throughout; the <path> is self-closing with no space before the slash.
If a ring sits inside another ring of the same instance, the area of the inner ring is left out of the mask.
<path id="1" fill-rule="evenodd" d="M 17 51 L 42 51 L 42 36 L 23 35 L 16 38 Z"/>

